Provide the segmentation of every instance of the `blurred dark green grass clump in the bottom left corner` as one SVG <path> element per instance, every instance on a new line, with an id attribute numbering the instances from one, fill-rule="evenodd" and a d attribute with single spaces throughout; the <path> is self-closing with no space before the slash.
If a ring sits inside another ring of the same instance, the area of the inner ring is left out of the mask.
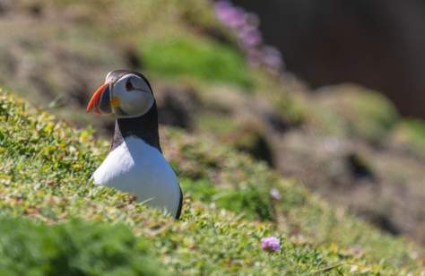
<path id="1" fill-rule="evenodd" d="M 0 233 L 1 275 L 165 275 L 152 246 L 124 225 L 0 218 Z"/>

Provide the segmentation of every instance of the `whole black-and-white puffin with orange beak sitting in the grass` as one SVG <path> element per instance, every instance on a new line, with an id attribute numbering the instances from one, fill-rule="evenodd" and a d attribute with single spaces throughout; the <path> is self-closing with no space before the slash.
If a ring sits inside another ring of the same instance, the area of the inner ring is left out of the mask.
<path id="1" fill-rule="evenodd" d="M 87 112 L 116 117 L 108 156 L 91 174 L 93 182 L 134 194 L 178 219 L 183 194 L 160 149 L 158 110 L 147 78 L 130 70 L 109 72 Z"/>

